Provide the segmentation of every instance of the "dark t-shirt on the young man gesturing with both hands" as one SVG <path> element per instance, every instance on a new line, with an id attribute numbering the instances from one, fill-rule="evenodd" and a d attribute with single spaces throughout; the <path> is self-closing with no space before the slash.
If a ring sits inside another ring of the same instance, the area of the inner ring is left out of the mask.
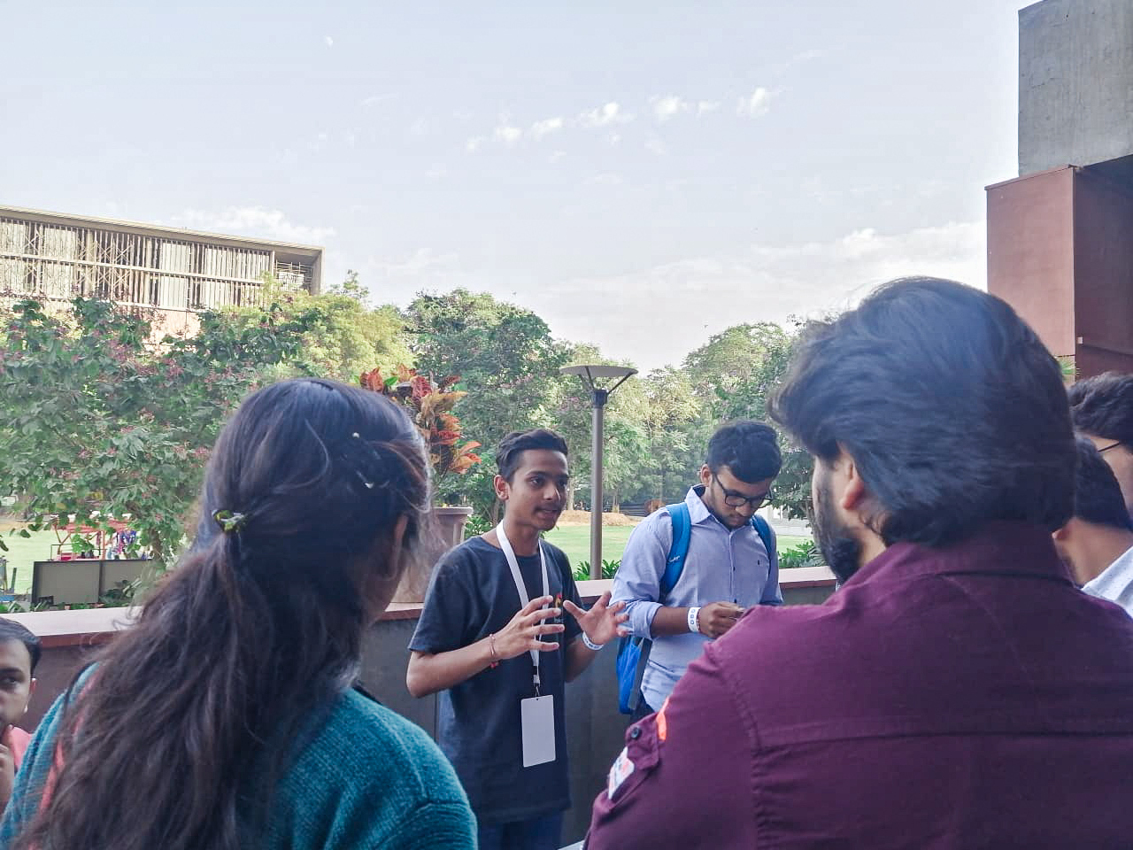
<path id="1" fill-rule="evenodd" d="M 580 605 L 566 555 L 546 542 L 550 593 Z M 539 555 L 518 556 L 528 598 L 543 595 Z M 433 572 L 410 649 L 443 653 L 499 632 L 521 607 L 503 552 L 472 537 L 445 554 Z M 546 620 L 545 622 L 553 622 Z M 437 743 L 457 770 L 482 824 L 526 821 L 570 808 L 563 715 L 565 648 L 581 629 L 563 612 L 566 627 L 557 652 L 539 654 L 543 694 L 555 697 L 555 760 L 523 767 L 519 700 L 535 696 L 531 656 L 523 653 L 488 668 L 438 695 Z"/>

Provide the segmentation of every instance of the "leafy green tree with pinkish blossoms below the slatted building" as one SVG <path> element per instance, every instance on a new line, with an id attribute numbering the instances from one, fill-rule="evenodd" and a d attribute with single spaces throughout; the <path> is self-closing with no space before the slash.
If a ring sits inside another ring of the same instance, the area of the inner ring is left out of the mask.
<path id="1" fill-rule="evenodd" d="M 5 318 L 0 492 L 19 495 L 32 530 L 71 518 L 109 530 L 128 516 L 168 566 L 225 417 L 265 375 L 303 368 L 324 315 L 276 303 L 239 321 L 204 313 L 196 337 L 159 346 L 144 316 L 109 301 L 77 298 L 59 316 L 27 299 Z"/>

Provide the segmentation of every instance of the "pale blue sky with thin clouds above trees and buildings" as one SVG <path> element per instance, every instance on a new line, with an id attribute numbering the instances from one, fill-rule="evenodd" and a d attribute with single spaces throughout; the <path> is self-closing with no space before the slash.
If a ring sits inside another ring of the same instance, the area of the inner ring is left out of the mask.
<path id="1" fill-rule="evenodd" d="M 324 246 L 640 368 L 986 287 L 1019 0 L 0 0 L 0 204 Z"/>

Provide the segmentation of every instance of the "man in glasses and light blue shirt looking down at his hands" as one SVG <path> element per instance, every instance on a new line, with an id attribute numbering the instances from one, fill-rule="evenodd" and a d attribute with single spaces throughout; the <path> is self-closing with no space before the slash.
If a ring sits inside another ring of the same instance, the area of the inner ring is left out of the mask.
<path id="1" fill-rule="evenodd" d="M 705 641 L 731 629 L 744 609 L 783 604 L 774 533 L 768 551 L 751 525 L 781 466 L 775 431 L 763 423 L 740 420 L 713 434 L 700 483 L 684 499 L 691 520 L 684 569 L 664 597 L 672 517 L 659 510 L 633 529 L 613 601 L 627 603 L 636 637 L 653 639 L 634 719 L 661 708 Z"/>

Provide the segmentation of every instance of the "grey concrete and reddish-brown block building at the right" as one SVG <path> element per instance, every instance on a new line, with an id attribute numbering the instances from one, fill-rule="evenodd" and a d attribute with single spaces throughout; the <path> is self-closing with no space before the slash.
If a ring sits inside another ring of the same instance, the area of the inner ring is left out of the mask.
<path id="1" fill-rule="evenodd" d="M 1133 0 L 1019 12 L 1019 177 L 987 187 L 988 290 L 1080 377 L 1133 372 Z"/>

